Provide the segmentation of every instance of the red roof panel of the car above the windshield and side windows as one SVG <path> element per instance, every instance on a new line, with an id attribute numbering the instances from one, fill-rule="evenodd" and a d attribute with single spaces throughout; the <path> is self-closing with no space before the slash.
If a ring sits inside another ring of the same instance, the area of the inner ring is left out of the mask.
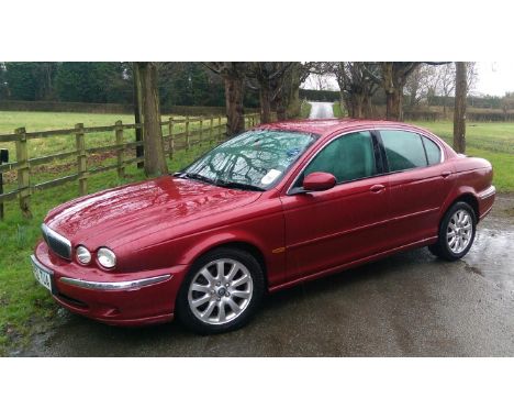
<path id="1" fill-rule="evenodd" d="M 280 131 L 297 131 L 314 134 L 331 134 L 343 129 L 357 129 L 357 128 L 373 128 L 379 125 L 381 128 L 398 128 L 398 129 L 416 129 L 426 132 L 421 128 L 404 124 L 398 121 L 386 120 L 358 120 L 358 119 L 321 119 L 321 120 L 290 120 L 279 121 L 268 124 L 257 125 L 256 130 L 280 130 Z"/>

